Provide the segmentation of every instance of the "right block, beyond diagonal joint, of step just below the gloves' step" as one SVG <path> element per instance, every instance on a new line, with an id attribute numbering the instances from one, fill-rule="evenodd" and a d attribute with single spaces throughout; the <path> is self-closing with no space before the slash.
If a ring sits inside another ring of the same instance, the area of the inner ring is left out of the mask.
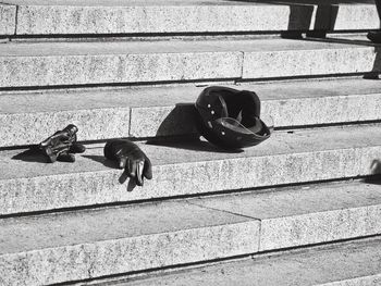
<path id="1" fill-rule="evenodd" d="M 189 202 L 260 220 L 262 251 L 381 233 L 379 184 L 318 185 Z"/>

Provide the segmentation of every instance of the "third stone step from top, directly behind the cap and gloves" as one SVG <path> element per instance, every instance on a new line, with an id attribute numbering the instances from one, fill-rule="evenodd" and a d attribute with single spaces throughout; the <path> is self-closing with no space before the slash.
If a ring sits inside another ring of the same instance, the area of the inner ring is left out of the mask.
<path id="1" fill-rule="evenodd" d="M 262 100 L 276 127 L 381 120 L 381 83 L 361 78 L 237 85 Z M 195 133 L 205 86 L 0 94 L 0 147 L 32 145 L 69 123 L 79 140 Z"/>

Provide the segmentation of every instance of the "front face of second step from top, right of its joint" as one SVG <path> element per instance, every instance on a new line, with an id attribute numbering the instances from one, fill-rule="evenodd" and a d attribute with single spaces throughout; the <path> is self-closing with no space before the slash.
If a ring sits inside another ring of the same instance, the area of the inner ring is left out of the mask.
<path id="1" fill-rule="evenodd" d="M 297 41 L 296 41 L 297 42 Z M 324 43 L 317 43 L 317 47 Z M 327 45 L 327 43 L 325 43 Z M 337 47 L 324 50 L 245 52 L 243 78 L 380 72 L 379 54 L 372 47 Z M 330 48 L 329 48 L 330 47 Z M 355 48 L 355 49 L 354 49 Z"/>

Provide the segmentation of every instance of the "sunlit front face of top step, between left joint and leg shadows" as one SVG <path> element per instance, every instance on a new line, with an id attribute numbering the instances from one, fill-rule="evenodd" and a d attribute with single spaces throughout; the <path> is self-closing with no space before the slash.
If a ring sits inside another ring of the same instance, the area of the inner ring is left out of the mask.
<path id="1" fill-rule="evenodd" d="M 119 5 L 107 3 L 107 7 L 21 5 L 17 34 L 274 30 L 285 29 L 288 20 L 286 5 L 243 5 L 226 1 L 187 5 L 118 2 Z M 261 14 L 267 16 L 253 16 Z"/>

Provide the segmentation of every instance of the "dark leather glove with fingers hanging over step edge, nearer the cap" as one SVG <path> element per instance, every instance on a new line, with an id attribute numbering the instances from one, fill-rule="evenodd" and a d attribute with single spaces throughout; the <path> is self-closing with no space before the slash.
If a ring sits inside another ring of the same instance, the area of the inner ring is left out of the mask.
<path id="1" fill-rule="evenodd" d="M 152 164 L 147 156 L 135 144 L 127 139 L 110 140 L 105 146 L 105 157 L 124 169 L 128 177 L 135 179 L 136 185 L 143 186 L 144 177 L 152 178 Z"/>

